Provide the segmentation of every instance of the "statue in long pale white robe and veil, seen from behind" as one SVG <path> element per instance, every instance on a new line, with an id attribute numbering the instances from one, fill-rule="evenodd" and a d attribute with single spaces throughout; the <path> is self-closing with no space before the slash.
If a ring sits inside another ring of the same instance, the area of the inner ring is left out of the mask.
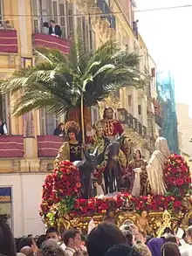
<path id="1" fill-rule="evenodd" d="M 163 170 L 168 164 L 169 156 L 171 153 L 167 140 L 163 137 L 157 138 L 154 153 L 147 164 L 147 176 L 153 195 L 165 195 L 167 192 Z"/>

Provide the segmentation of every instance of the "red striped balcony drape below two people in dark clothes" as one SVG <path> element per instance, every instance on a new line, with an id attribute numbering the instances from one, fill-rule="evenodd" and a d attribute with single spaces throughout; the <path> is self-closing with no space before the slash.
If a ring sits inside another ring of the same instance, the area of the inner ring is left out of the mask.
<path id="1" fill-rule="evenodd" d="M 70 40 L 42 33 L 33 34 L 33 46 L 57 49 L 64 54 L 69 54 L 70 52 Z"/>

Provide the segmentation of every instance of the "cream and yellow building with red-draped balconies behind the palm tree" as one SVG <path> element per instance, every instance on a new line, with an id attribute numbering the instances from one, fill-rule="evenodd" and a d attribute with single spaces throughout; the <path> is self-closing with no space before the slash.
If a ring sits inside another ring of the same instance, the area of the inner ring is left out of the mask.
<path id="1" fill-rule="evenodd" d="M 68 54 L 77 30 L 81 31 L 89 51 L 109 38 L 118 40 L 122 49 L 141 56 L 138 68 L 151 79 L 143 88 L 125 85 L 116 93 L 118 104 L 115 106 L 113 99 L 107 104 L 111 102 L 116 108 L 117 117 L 134 141 L 134 147 L 141 149 L 147 159 L 153 149 L 156 67 L 141 36 L 135 36 L 134 8 L 131 0 L 113 3 L 109 0 L 0 0 L 3 26 L 0 29 L 0 79 L 19 67 L 33 66 L 39 61 L 33 51 L 36 47 L 45 46 Z M 43 27 L 51 19 L 61 27 L 60 38 L 48 34 L 46 26 Z M 14 94 L 0 96 L 0 118 L 9 131 L 8 136 L 0 136 L 0 203 L 3 203 L 0 214 L 10 219 L 15 236 L 40 234 L 44 232 L 38 218 L 41 186 L 62 144 L 62 138 L 52 134 L 64 115 L 49 114 L 43 108 L 13 118 L 9 107 L 15 97 Z M 92 107 L 91 118 L 92 121 L 99 118 L 99 107 Z M 4 197 L 8 200 L 1 200 Z M 19 221 L 14 221 L 16 219 Z"/>

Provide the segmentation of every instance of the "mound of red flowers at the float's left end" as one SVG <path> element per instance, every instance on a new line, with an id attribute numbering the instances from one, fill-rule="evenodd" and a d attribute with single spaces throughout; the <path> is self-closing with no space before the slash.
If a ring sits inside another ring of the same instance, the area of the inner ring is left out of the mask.
<path id="1" fill-rule="evenodd" d="M 80 188 L 80 175 L 76 166 L 69 161 L 58 163 L 53 173 L 46 176 L 43 184 L 41 217 L 45 218 L 55 204 L 58 204 L 58 211 L 62 213 L 71 211 L 74 200 L 79 198 Z"/>

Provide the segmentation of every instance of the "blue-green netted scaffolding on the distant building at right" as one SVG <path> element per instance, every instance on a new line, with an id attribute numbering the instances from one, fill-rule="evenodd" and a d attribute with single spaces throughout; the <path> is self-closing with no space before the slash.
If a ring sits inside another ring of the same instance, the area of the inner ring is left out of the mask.
<path id="1" fill-rule="evenodd" d="M 179 154 L 175 82 L 170 72 L 157 73 L 157 93 L 161 107 L 161 136 L 168 140 L 171 152 Z"/>

